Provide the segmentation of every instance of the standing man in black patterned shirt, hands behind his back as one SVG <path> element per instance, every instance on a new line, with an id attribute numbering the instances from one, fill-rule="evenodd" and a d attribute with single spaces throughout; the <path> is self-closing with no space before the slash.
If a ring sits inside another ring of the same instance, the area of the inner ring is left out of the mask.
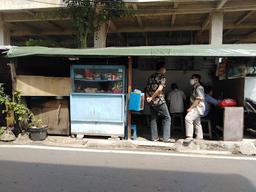
<path id="1" fill-rule="evenodd" d="M 166 78 L 164 74 L 166 68 L 164 63 L 157 64 L 157 72 L 152 74 L 147 81 L 145 89 L 146 101 L 150 105 L 151 112 L 151 136 L 153 141 L 158 141 L 158 128 L 157 128 L 157 117 L 162 117 L 163 126 L 163 141 L 164 142 L 175 142 L 170 138 L 171 135 L 171 117 L 164 99 L 164 88 L 166 87 Z"/>

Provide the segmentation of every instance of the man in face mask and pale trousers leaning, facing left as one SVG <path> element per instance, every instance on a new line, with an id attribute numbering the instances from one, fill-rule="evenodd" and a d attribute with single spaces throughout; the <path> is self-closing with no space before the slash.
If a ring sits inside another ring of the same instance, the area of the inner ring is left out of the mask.
<path id="1" fill-rule="evenodd" d="M 192 75 L 190 79 L 190 84 L 192 86 L 192 94 L 190 96 L 191 106 L 187 110 L 187 115 L 185 117 L 186 124 L 186 139 L 184 141 L 185 145 L 188 145 L 193 141 L 194 130 L 197 139 L 203 139 L 203 129 L 201 125 L 200 116 L 205 112 L 205 94 L 204 87 L 200 83 L 201 76 L 199 74 Z"/>

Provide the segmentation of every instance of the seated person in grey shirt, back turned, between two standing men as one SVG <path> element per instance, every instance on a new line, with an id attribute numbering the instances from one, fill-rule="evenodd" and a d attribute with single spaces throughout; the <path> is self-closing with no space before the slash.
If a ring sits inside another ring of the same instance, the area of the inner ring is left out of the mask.
<path id="1" fill-rule="evenodd" d="M 184 113 L 185 93 L 178 88 L 176 83 L 171 84 L 172 91 L 168 94 L 167 100 L 170 103 L 170 113 Z"/>

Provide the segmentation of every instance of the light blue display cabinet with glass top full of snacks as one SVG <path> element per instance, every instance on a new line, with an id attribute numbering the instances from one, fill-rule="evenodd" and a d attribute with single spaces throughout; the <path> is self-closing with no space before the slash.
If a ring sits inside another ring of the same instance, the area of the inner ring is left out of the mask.
<path id="1" fill-rule="evenodd" d="M 124 137 L 125 67 L 73 65 L 71 134 Z"/>

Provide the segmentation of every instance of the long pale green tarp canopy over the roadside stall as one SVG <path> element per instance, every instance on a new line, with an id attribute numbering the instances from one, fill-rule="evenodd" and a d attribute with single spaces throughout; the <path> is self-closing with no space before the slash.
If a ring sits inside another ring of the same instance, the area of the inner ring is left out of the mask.
<path id="1" fill-rule="evenodd" d="M 24 56 L 220 56 L 252 57 L 256 56 L 256 44 L 224 45 L 178 45 L 178 46 L 141 46 L 107 47 L 88 49 L 48 48 L 48 47 L 12 47 L 7 57 Z"/>

